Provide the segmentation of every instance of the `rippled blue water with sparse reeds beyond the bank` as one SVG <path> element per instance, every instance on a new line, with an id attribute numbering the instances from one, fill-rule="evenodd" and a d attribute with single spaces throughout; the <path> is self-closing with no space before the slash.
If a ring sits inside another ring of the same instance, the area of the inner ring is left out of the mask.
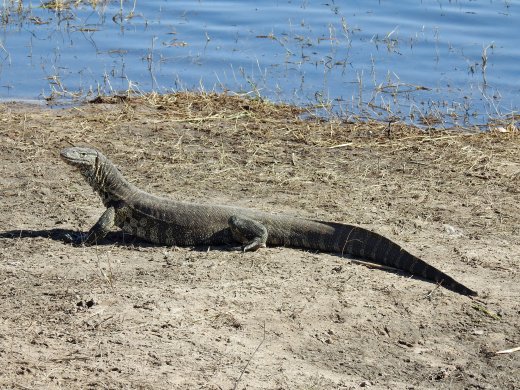
<path id="1" fill-rule="evenodd" d="M 520 108 L 520 0 L 3 3 L 2 99 L 229 91 L 454 124 Z"/>

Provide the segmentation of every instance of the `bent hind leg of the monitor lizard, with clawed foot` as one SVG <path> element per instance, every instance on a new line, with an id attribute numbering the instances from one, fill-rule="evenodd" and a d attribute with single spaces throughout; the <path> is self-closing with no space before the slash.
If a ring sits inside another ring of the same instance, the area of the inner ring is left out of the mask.
<path id="1" fill-rule="evenodd" d="M 233 238 L 242 244 L 244 252 L 265 248 L 267 229 L 260 222 L 233 215 L 229 218 L 228 225 Z"/>

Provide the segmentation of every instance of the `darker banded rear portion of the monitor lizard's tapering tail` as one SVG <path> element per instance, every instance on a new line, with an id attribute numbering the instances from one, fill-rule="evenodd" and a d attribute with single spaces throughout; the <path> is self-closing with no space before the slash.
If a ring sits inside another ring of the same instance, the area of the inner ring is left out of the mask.
<path id="1" fill-rule="evenodd" d="M 459 294 L 469 296 L 477 295 L 475 291 L 467 288 L 451 276 L 446 275 L 441 270 L 412 255 L 400 245 L 380 234 L 358 226 L 335 222 L 320 222 L 334 228 L 333 237 L 329 237 L 333 242 L 331 243 L 329 240 L 326 240 L 329 241 L 327 243 L 328 245 L 326 245 L 328 251 L 330 251 L 330 244 L 332 244 L 337 253 L 353 255 L 407 271 L 412 275 L 436 282 Z M 327 250 L 326 248 L 319 249 Z"/>

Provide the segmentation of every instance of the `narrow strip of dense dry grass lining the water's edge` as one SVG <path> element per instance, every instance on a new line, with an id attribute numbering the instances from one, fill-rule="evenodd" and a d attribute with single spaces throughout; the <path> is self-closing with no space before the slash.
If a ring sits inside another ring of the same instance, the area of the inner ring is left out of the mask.
<path id="1" fill-rule="evenodd" d="M 451 129 L 419 129 L 404 122 L 361 121 L 353 118 L 348 122 L 339 118 L 323 119 L 315 117 L 308 108 L 295 107 L 288 104 L 273 104 L 262 99 L 251 99 L 237 95 L 217 93 L 179 92 L 175 94 L 133 94 L 97 97 L 91 103 L 118 104 L 123 103 L 132 115 L 138 107 L 155 109 L 154 116 L 158 120 L 176 122 L 195 122 L 211 126 L 214 121 L 237 121 L 244 118 L 242 130 L 258 130 L 264 136 L 269 134 L 267 127 L 286 130 L 296 140 L 309 144 L 333 147 L 347 139 L 363 139 L 363 141 L 402 140 L 413 138 L 442 139 L 466 136 L 515 139 L 520 134 L 516 125 L 517 118 L 511 117 L 506 122 L 493 123 L 489 132 L 478 128 Z"/>

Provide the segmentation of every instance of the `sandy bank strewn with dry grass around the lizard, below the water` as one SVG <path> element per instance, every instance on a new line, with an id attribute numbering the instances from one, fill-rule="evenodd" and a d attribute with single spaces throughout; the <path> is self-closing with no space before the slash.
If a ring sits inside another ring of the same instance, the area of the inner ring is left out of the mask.
<path id="1" fill-rule="evenodd" d="M 0 105 L 0 388 L 520 389 L 520 135 L 299 120 L 179 94 Z M 148 245 L 59 159 L 100 148 L 143 189 L 344 221 L 446 271 L 470 299 L 297 249 Z"/>

